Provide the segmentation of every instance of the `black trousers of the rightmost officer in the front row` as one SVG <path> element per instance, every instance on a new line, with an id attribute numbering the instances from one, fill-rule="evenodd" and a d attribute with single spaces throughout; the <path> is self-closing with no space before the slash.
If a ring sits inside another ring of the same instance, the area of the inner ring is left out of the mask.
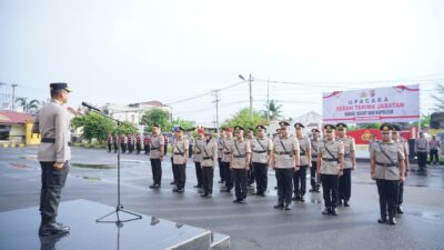
<path id="1" fill-rule="evenodd" d="M 398 180 L 376 179 L 377 192 L 380 193 L 381 218 L 393 218 L 396 212 Z"/>

